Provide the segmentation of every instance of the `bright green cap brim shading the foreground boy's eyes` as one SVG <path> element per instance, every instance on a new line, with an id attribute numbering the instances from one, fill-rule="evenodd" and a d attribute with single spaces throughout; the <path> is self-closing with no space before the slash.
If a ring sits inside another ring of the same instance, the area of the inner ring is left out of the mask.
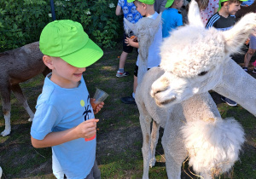
<path id="1" fill-rule="evenodd" d="M 102 49 L 89 38 L 88 42 L 82 49 L 79 49 L 72 54 L 60 57 L 63 61 L 66 61 L 72 66 L 87 67 L 98 61 L 102 55 Z"/>

